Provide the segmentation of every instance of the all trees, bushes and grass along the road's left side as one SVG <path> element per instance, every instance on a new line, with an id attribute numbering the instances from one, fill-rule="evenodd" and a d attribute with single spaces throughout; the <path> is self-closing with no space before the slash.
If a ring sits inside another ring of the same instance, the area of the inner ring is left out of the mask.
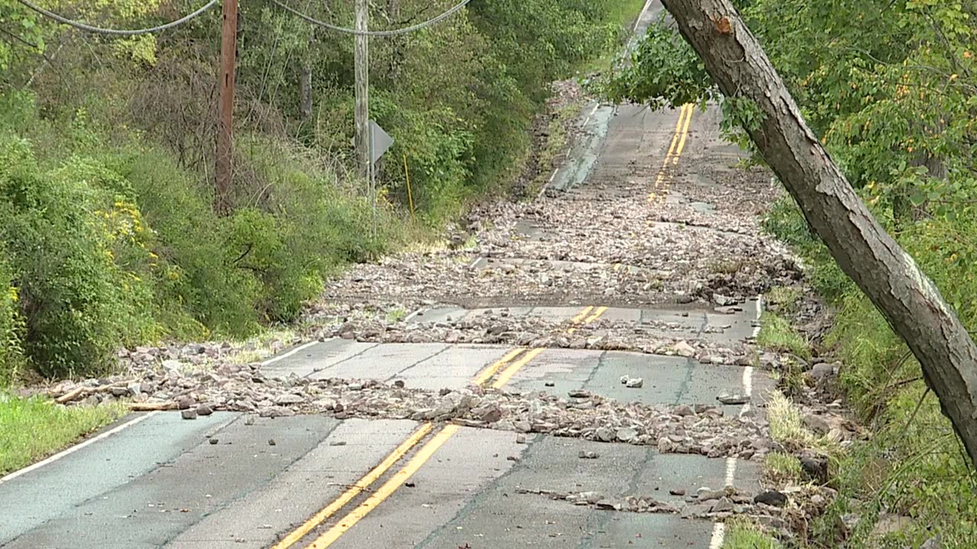
<path id="1" fill-rule="evenodd" d="M 190 0 L 45 2 L 114 28 Z M 450 3 L 371 5 L 372 29 Z M 0 391 L 98 376 L 120 347 L 234 339 L 261 359 L 325 280 L 404 246 L 438 245 L 476 200 L 508 192 L 551 82 L 607 68 L 643 1 L 473 2 L 370 41 L 370 114 L 396 144 L 378 164 L 377 230 L 352 150 L 351 36 L 259 0 L 240 5 L 229 211 L 215 209 L 220 9 L 132 38 L 57 25 L 0 0 Z M 352 3 L 309 3 L 351 25 Z M 558 114 L 563 125 L 572 109 Z M 409 177 L 414 212 L 407 211 Z M 0 393 L 0 474 L 120 413 Z"/>

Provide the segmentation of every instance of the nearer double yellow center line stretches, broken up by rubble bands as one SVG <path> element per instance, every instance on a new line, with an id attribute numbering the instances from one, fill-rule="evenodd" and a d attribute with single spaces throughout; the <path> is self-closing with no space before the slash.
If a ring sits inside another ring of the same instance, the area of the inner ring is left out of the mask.
<path id="1" fill-rule="evenodd" d="M 584 307 L 582 311 L 577 313 L 573 319 L 571 319 L 571 327 L 567 330 L 568 334 L 573 334 L 577 328 L 584 324 L 589 324 L 597 318 L 600 318 L 607 312 L 607 307 Z M 496 360 L 494 363 L 483 369 L 472 383 L 479 386 L 486 386 L 489 381 L 491 381 L 490 387 L 493 389 L 501 389 L 512 376 L 516 374 L 523 366 L 525 366 L 531 359 L 534 359 L 537 355 L 543 352 L 542 348 L 518 348 L 513 349 L 507 353 L 501 359 Z M 517 359 L 518 358 L 518 359 Z M 501 370 L 501 371 L 499 371 Z M 494 378 L 494 381 L 492 381 Z M 408 437 L 403 443 L 401 443 L 393 452 L 390 453 L 379 465 L 366 473 L 357 483 L 343 492 L 338 498 L 325 506 L 319 513 L 316 513 L 308 521 L 306 521 L 302 526 L 296 528 L 284 538 L 281 539 L 273 549 L 288 549 L 303 537 L 309 534 L 313 529 L 317 528 L 323 522 L 325 522 L 329 517 L 335 515 L 340 511 L 345 505 L 353 500 L 356 496 L 360 495 L 363 490 L 367 489 L 370 485 L 375 483 L 380 477 L 382 477 L 391 467 L 393 467 L 398 461 L 400 461 L 404 455 L 415 445 L 423 441 L 427 436 L 433 431 L 434 426 L 431 423 L 425 423 L 417 428 L 410 437 Z M 397 488 L 404 485 L 404 483 L 409 479 L 414 473 L 416 473 L 422 465 L 424 465 L 427 460 L 431 459 L 438 448 L 440 448 L 452 435 L 458 432 L 460 427 L 455 424 L 448 424 L 443 427 L 438 433 L 436 433 L 430 441 L 425 443 L 417 453 L 410 458 L 409 461 L 404 465 L 404 467 L 395 473 L 383 486 L 380 486 L 375 492 L 370 494 L 363 502 L 357 506 L 356 509 L 350 511 L 345 517 L 343 517 L 336 525 L 332 528 L 327 529 L 324 533 L 319 535 L 315 541 L 308 546 L 308 549 L 323 549 L 328 547 L 337 539 L 339 536 L 343 535 L 350 528 L 360 522 L 360 520 L 365 517 L 370 511 L 376 508 L 385 499 L 390 497 Z"/>

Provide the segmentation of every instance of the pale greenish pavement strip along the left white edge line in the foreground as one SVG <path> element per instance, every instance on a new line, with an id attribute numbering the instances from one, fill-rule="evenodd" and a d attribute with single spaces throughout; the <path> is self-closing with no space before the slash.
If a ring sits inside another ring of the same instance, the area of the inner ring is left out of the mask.
<path id="1" fill-rule="evenodd" d="M 181 421 L 179 415 L 151 414 L 124 431 L 0 484 L 0 546 L 161 464 L 171 464 L 234 418 L 215 413 Z"/>

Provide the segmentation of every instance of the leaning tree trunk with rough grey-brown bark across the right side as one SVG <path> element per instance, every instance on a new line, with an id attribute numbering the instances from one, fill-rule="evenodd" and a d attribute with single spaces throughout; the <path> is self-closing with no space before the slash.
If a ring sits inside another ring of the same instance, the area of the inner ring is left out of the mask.
<path id="1" fill-rule="evenodd" d="M 828 157 L 730 0 L 662 3 L 723 94 L 760 107 L 764 117 L 750 138 L 838 266 L 906 340 L 977 464 L 977 346 L 966 328 Z"/>

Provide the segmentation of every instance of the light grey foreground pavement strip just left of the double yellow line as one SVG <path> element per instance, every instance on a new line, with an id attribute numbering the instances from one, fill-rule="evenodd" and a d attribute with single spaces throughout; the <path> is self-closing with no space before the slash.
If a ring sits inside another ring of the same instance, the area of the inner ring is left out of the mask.
<path id="1" fill-rule="evenodd" d="M 209 549 L 234 543 L 237 549 L 259 549 L 274 545 L 359 481 L 416 428 L 416 423 L 407 420 L 346 420 L 268 486 L 206 516 L 166 547 Z"/>

